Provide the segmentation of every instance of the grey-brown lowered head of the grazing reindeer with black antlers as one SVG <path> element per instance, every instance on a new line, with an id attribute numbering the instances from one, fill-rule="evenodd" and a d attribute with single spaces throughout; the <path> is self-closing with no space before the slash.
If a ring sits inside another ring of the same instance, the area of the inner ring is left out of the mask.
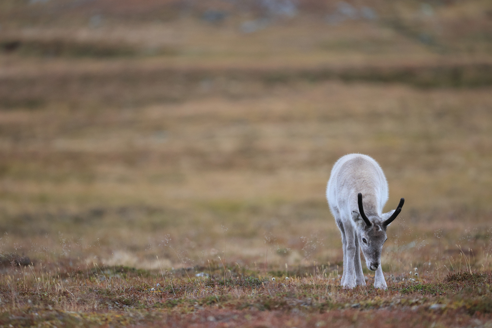
<path id="1" fill-rule="evenodd" d="M 362 194 L 358 195 L 359 212 L 352 211 L 352 219 L 355 221 L 359 230 L 359 244 L 361 245 L 362 253 L 366 258 L 366 265 L 369 270 L 376 270 L 381 265 L 381 251 L 383 244 L 386 241 L 386 228 L 400 214 L 401 207 L 405 200 L 400 199 L 400 204 L 397 209 L 379 215 L 369 215 L 369 218 L 364 213 L 362 207 Z"/>

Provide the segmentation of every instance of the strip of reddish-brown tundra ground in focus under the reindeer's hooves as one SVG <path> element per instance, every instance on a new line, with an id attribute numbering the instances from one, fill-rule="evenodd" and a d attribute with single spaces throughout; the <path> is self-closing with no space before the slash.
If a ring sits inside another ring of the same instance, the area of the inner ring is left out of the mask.
<path id="1" fill-rule="evenodd" d="M 195 268 L 212 274 L 203 278 L 187 278 L 183 270 L 93 265 L 48 273 L 36 267 L 2 277 L 2 325 L 488 327 L 492 312 L 487 273 L 454 273 L 438 281 L 418 277 L 392 282 L 387 291 L 347 292 L 331 278 L 336 271 L 325 275 L 327 268 L 318 267 L 286 270 L 275 281 L 239 266 L 222 273 L 216 263 Z M 312 272 L 296 276 L 300 269 Z"/>

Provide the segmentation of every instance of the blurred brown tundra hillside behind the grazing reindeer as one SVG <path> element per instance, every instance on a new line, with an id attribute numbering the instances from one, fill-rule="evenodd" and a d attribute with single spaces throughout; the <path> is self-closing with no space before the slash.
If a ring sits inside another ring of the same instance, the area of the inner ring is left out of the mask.
<path id="1" fill-rule="evenodd" d="M 491 150 L 489 0 L 0 1 L 3 259 L 341 266 L 351 152 L 383 263 L 485 255 Z"/>

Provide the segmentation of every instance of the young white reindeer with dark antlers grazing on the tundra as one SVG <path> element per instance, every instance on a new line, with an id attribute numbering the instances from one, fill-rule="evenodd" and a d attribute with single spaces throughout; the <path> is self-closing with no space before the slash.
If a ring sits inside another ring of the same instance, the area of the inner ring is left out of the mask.
<path id="1" fill-rule="evenodd" d="M 366 265 L 376 271 L 374 288 L 386 289 L 381 251 L 387 239 L 386 228 L 400 214 L 405 200 L 401 198 L 397 209 L 382 213 L 388 200 L 388 182 L 379 164 L 362 154 L 338 159 L 326 187 L 326 198 L 341 232 L 341 285 L 344 288 L 366 285 L 360 257 L 362 248 Z"/>

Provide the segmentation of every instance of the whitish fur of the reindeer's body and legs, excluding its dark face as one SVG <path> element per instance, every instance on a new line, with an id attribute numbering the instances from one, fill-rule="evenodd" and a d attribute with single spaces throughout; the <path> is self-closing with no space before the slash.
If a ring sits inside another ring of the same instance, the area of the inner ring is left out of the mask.
<path id="1" fill-rule="evenodd" d="M 360 229 L 365 223 L 356 218 L 359 214 L 358 193 L 362 193 L 364 197 L 364 212 L 372 220 L 378 221 L 376 224 L 382 223 L 382 220 L 386 220 L 394 212 L 382 213 L 388 200 L 388 182 L 379 164 L 367 155 L 348 154 L 338 159 L 333 166 L 326 188 L 328 204 L 342 234 L 341 284 L 345 288 L 366 285 L 359 247 Z M 366 257 L 366 261 L 367 259 Z M 374 287 L 387 288 L 381 265 L 376 269 Z"/>

